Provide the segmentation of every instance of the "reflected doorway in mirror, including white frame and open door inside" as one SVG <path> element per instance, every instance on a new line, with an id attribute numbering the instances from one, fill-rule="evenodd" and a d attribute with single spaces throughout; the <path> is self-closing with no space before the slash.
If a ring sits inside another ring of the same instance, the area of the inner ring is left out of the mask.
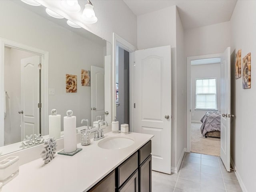
<path id="1" fill-rule="evenodd" d="M 48 52 L 0 38 L 0 76 L 0 146 L 48 134 Z"/>

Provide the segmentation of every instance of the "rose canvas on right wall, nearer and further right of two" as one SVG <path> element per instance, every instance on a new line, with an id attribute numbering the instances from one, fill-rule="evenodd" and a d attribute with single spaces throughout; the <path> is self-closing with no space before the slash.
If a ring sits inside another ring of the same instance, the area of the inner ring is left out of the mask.
<path id="1" fill-rule="evenodd" d="M 243 89 L 251 88 L 251 53 L 243 58 Z"/>

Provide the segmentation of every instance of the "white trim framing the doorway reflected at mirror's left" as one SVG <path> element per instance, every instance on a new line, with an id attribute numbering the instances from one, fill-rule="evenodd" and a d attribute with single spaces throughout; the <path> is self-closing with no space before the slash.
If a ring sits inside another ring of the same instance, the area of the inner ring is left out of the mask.
<path id="1" fill-rule="evenodd" d="M 8 39 L 0 38 L 0 103 L 4 103 L 4 47 L 8 46 L 26 52 L 31 52 L 42 57 L 41 64 L 41 117 L 42 135 L 48 135 L 48 52 L 27 46 Z M 0 105 L 0 136 L 4 136 L 4 105 Z M 0 146 L 4 145 L 4 140 L 0 137 Z"/>

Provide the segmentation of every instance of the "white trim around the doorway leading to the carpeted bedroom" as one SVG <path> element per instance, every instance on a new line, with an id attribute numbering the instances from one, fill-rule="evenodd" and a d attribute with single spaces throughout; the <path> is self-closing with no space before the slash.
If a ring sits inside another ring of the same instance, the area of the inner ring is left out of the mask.
<path id="1" fill-rule="evenodd" d="M 191 126 L 191 61 L 221 57 L 221 54 L 209 54 L 187 57 L 187 149 L 191 150 L 190 126 Z"/>

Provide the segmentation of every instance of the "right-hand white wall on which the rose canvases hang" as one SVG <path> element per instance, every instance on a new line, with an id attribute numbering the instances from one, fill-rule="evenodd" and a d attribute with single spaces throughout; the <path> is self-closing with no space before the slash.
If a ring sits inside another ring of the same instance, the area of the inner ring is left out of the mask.
<path id="1" fill-rule="evenodd" d="M 231 156 L 237 173 L 243 183 L 244 192 L 256 189 L 256 1 L 238 0 L 231 17 L 231 53 L 235 65 L 234 53 L 242 49 L 242 58 L 251 52 L 251 89 L 242 88 L 242 78 L 235 80 L 232 67 L 232 109 L 236 116 L 231 124 Z"/>

